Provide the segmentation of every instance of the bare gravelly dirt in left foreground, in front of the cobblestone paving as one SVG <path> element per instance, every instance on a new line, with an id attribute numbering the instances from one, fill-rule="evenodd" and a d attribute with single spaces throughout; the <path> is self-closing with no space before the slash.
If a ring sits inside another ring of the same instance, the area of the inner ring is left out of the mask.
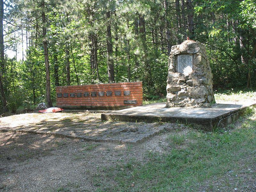
<path id="1" fill-rule="evenodd" d="M 131 146 L 0 132 L 0 190 L 94 191 L 93 176 L 100 167 L 113 167 L 131 158 L 145 161 L 149 150 L 164 150 L 166 136 L 160 134 Z"/>

